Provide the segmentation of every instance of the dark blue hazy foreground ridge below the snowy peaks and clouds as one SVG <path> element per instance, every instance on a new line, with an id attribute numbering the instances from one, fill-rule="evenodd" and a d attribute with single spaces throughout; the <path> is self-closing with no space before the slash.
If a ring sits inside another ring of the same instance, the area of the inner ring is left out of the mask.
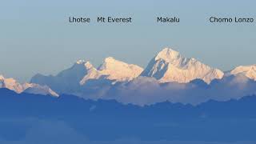
<path id="1" fill-rule="evenodd" d="M 247 96 L 198 106 L 161 102 L 141 107 L 0 89 L 0 138 L 20 140 L 31 127 L 40 125 L 38 122 L 63 122 L 77 134 L 96 141 L 256 141 L 255 103 L 256 96 Z"/>

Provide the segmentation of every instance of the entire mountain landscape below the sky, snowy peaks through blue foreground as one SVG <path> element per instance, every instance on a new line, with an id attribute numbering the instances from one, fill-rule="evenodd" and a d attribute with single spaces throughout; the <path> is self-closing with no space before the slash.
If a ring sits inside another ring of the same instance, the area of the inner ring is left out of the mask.
<path id="1" fill-rule="evenodd" d="M 0 143 L 255 143 L 255 75 L 168 48 L 145 70 L 109 57 L 25 83 L 1 75 Z"/>

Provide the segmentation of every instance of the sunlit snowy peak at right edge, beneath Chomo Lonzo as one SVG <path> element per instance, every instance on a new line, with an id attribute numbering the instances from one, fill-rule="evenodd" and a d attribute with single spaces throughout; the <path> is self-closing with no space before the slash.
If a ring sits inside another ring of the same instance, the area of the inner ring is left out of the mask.
<path id="1" fill-rule="evenodd" d="M 238 66 L 234 70 L 230 71 L 230 74 L 233 75 L 244 75 L 247 78 L 253 79 L 256 81 L 256 65 L 251 66 Z"/>

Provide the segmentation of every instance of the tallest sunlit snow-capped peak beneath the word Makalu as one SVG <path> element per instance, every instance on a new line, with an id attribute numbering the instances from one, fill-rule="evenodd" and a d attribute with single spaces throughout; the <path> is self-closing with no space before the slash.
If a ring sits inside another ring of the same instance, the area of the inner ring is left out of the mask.
<path id="1" fill-rule="evenodd" d="M 159 82 L 186 83 L 198 78 L 208 84 L 215 78 L 223 77 L 221 70 L 211 68 L 195 58 L 184 58 L 168 48 L 160 51 L 141 75 L 157 78 Z"/>

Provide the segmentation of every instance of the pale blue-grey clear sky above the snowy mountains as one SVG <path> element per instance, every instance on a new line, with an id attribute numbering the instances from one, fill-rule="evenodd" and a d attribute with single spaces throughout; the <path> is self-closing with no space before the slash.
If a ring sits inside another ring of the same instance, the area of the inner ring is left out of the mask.
<path id="1" fill-rule="evenodd" d="M 23 0 L 0 6 L 0 74 L 24 82 L 57 74 L 79 59 L 94 66 L 112 56 L 145 67 L 169 46 L 221 70 L 256 63 L 256 22 L 210 24 L 210 16 L 253 17 L 256 2 L 196 0 Z M 70 24 L 70 16 L 134 18 L 132 24 Z M 176 25 L 157 16 L 178 16 Z"/>

